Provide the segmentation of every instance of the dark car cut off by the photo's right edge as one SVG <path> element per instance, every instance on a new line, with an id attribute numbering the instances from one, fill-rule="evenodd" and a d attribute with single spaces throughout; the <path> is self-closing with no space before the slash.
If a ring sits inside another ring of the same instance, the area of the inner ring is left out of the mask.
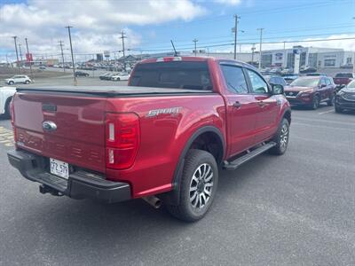
<path id="1" fill-rule="evenodd" d="M 339 90 L 335 96 L 335 112 L 355 110 L 355 80 Z"/>

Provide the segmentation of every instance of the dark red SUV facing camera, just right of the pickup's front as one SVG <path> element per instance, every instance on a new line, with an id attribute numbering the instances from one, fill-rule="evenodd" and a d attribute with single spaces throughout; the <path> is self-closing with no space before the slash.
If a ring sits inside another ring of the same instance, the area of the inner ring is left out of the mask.
<path id="1" fill-rule="evenodd" d="M 317 109 L 322 102 L 333 106 L 335 84 L 331 78 L 325 76 L 302 76 L 285 87 L 285 94 L 293 106 L 310 106 Z"/>

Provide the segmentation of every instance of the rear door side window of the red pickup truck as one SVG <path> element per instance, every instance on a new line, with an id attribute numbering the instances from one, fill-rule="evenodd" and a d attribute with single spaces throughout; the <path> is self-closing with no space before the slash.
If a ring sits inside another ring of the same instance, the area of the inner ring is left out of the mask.
<path id="1" fill-rule="evenodd" d="M 243 70 L 239 66 L 221 65 L 227 89 L 236 94 L 248 93 L 248 86 Z"/>

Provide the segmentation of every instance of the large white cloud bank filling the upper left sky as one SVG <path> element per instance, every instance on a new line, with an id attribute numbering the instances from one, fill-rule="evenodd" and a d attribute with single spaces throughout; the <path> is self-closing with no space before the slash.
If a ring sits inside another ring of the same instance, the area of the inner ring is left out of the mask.
<path id="1" fill-rule="evenodd" d="M 191 0 L 28 0 L 28 4 L 3 4 L 0 5 L 0 52 L 13 51 L 12 36 L 17 35 L 21 44 L 28 37 L 34 53 L 59 53 L 59 39 L 69 47 L 67 25 L 74 27 L 75 52 L 117 51 L 122 49 L 119 39 L 122 28 L 127 32 L 127 48 L 130 48 L 141 39 L 130 30 L 131 26 L 189 21 L 205 13 L 201 5 Z"/>

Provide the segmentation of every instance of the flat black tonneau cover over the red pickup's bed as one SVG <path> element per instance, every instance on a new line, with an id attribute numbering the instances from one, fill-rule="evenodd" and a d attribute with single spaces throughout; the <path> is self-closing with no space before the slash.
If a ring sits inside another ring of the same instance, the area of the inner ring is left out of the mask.
<path id="1" fill-rule="evenodd" d="M 130 95 L 161 95 L 161 94 L 201 94 L 212 93 L 211 90 L 186 90 L 186 89 L 165 89 L 134 86 L 53 86 L 53 87 L 24 87 L 17 88 L 17 91 L 32 92 L 62 92 L 98 95 L 105 97 L 130 96 Z"/>

